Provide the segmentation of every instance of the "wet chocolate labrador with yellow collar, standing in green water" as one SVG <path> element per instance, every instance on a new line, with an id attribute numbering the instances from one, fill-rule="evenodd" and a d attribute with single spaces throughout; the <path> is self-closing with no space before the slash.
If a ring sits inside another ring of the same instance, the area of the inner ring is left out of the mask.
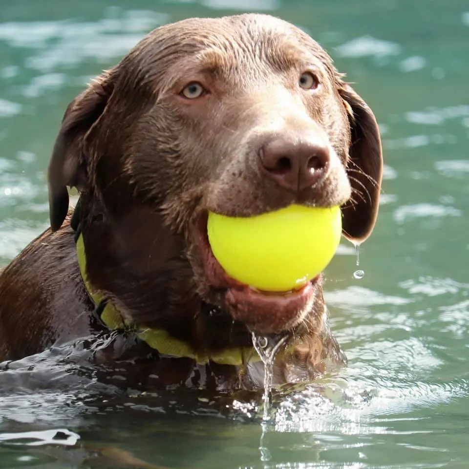
<path id="1" fill-rule="evenodd" d="M 224 272 L 207 237 L 208 211 L 293 203 L 341 205 L 351 240 L 374 227 L 375 117 L 297 27 L 244 14 L 155 29 L 68 106 L 48 176 L 51 227 L 0 275 L 0 358 L 104 329 L 151 350 L 166 384 L 230 389 L 262 386 L 253 332 L 282 343 L 278 383 L 345 360 L 321 277 L 258 291 Z"/>

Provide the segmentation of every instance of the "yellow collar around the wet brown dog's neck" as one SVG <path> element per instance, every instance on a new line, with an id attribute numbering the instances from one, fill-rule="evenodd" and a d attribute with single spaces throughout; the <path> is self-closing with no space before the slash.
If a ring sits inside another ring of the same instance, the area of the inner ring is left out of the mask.
<path id="1" fill-rule="evenodd" d="M 85 244 L 81 233 L 77 239 L 77 256 L 78 263 L 80 265 L 80 273 L 82 275 L 83 282 L 85 283 L 88 295 L 94 303 L 98 305 L 104 299 L 104 296 L 99 291 L 95 291 L 92 288 L 86 277 Z M 122 315 L 110 301 L 106 303 L 101 314 L 101 320 L 110 330 L 129 329 L 129 326 L 124 322 Z M 243 365 L 248 362 L 257 362 L 260 360 L 260 357 L 257 355 L 253 347 L 232 347 L 216 353 L 209 351 L 200 352 L 194 350 L 189 343 L 172 337 L 164 329 L 151 329 L 140 326 L 137 336 L 147 342 L 151 348 L 158 350 L 160 354 L 171 355 L 176 358 L 190 358 L 195 360 L 198 364 L 215 362 L 225 365 Z"/>

